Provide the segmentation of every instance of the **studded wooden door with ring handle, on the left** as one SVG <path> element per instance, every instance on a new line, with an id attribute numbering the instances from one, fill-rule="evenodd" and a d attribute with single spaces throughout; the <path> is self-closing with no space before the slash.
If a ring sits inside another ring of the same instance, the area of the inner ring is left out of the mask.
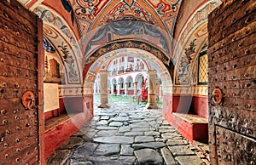
<path id="1" fill-rule="evenodd" d="M 20 3 L 0 1 L 0 164 L 44 163 L 42 28 Z"/>

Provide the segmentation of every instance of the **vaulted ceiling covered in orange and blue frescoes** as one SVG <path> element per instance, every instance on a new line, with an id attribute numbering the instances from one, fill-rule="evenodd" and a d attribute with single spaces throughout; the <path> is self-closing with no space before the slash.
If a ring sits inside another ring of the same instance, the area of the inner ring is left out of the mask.
<path id="1" fill-rule="evenodd" d="M 191 42 L 195 56 L 204 48 L 207 14 L 224 0 L 19 1 L 44 21 L 45 52 L 58 54 L 67 83 L 81 83 L 86 65 L 115 49 L 138 45 L 178 71 Z M 131 44 L 122 43 L 127 40 Z"/>

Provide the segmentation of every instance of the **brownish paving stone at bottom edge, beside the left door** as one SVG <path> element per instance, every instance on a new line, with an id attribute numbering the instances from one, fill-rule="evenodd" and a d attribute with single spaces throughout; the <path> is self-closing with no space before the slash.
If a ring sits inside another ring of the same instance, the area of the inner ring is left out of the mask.
<path id="1" fill-rule="evenodd" d="M 50 164 L 50 165 L 65 164 L 68 160 L 68 156 L 70 153 L 71 151 L 69 150 L 54 151 L 46 160 L 46 162 L 47 164 Z"/>

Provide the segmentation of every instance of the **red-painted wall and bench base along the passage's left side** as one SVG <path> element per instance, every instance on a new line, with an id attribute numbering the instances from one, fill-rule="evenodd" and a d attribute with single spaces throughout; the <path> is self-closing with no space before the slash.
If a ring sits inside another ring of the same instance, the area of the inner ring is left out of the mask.
<path id="1" fill-rule="evenodd" d="M 61 98 L 59 111 L 65 113 L 66 110 L 68 114 L 74 112 L 77 113 L 77 115 L 67 119 L 67 121 L 58 123 L 54 128 L 50 128 L 45 132 L 46 157 L 93 117 L 93 95 Z M 45 120 L 56 117 L 57 110 L 46 112 L 44 116 Z"/>

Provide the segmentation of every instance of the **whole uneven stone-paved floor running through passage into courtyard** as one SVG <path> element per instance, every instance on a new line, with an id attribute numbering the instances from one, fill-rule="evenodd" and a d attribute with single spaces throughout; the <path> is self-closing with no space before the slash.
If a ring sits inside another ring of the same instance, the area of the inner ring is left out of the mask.
<path id="1" fill-rule="evenodd" d="M 47 164 L 209 164 L 161 115 L 136 103 L 112 103 L 55 152 Z"/>

